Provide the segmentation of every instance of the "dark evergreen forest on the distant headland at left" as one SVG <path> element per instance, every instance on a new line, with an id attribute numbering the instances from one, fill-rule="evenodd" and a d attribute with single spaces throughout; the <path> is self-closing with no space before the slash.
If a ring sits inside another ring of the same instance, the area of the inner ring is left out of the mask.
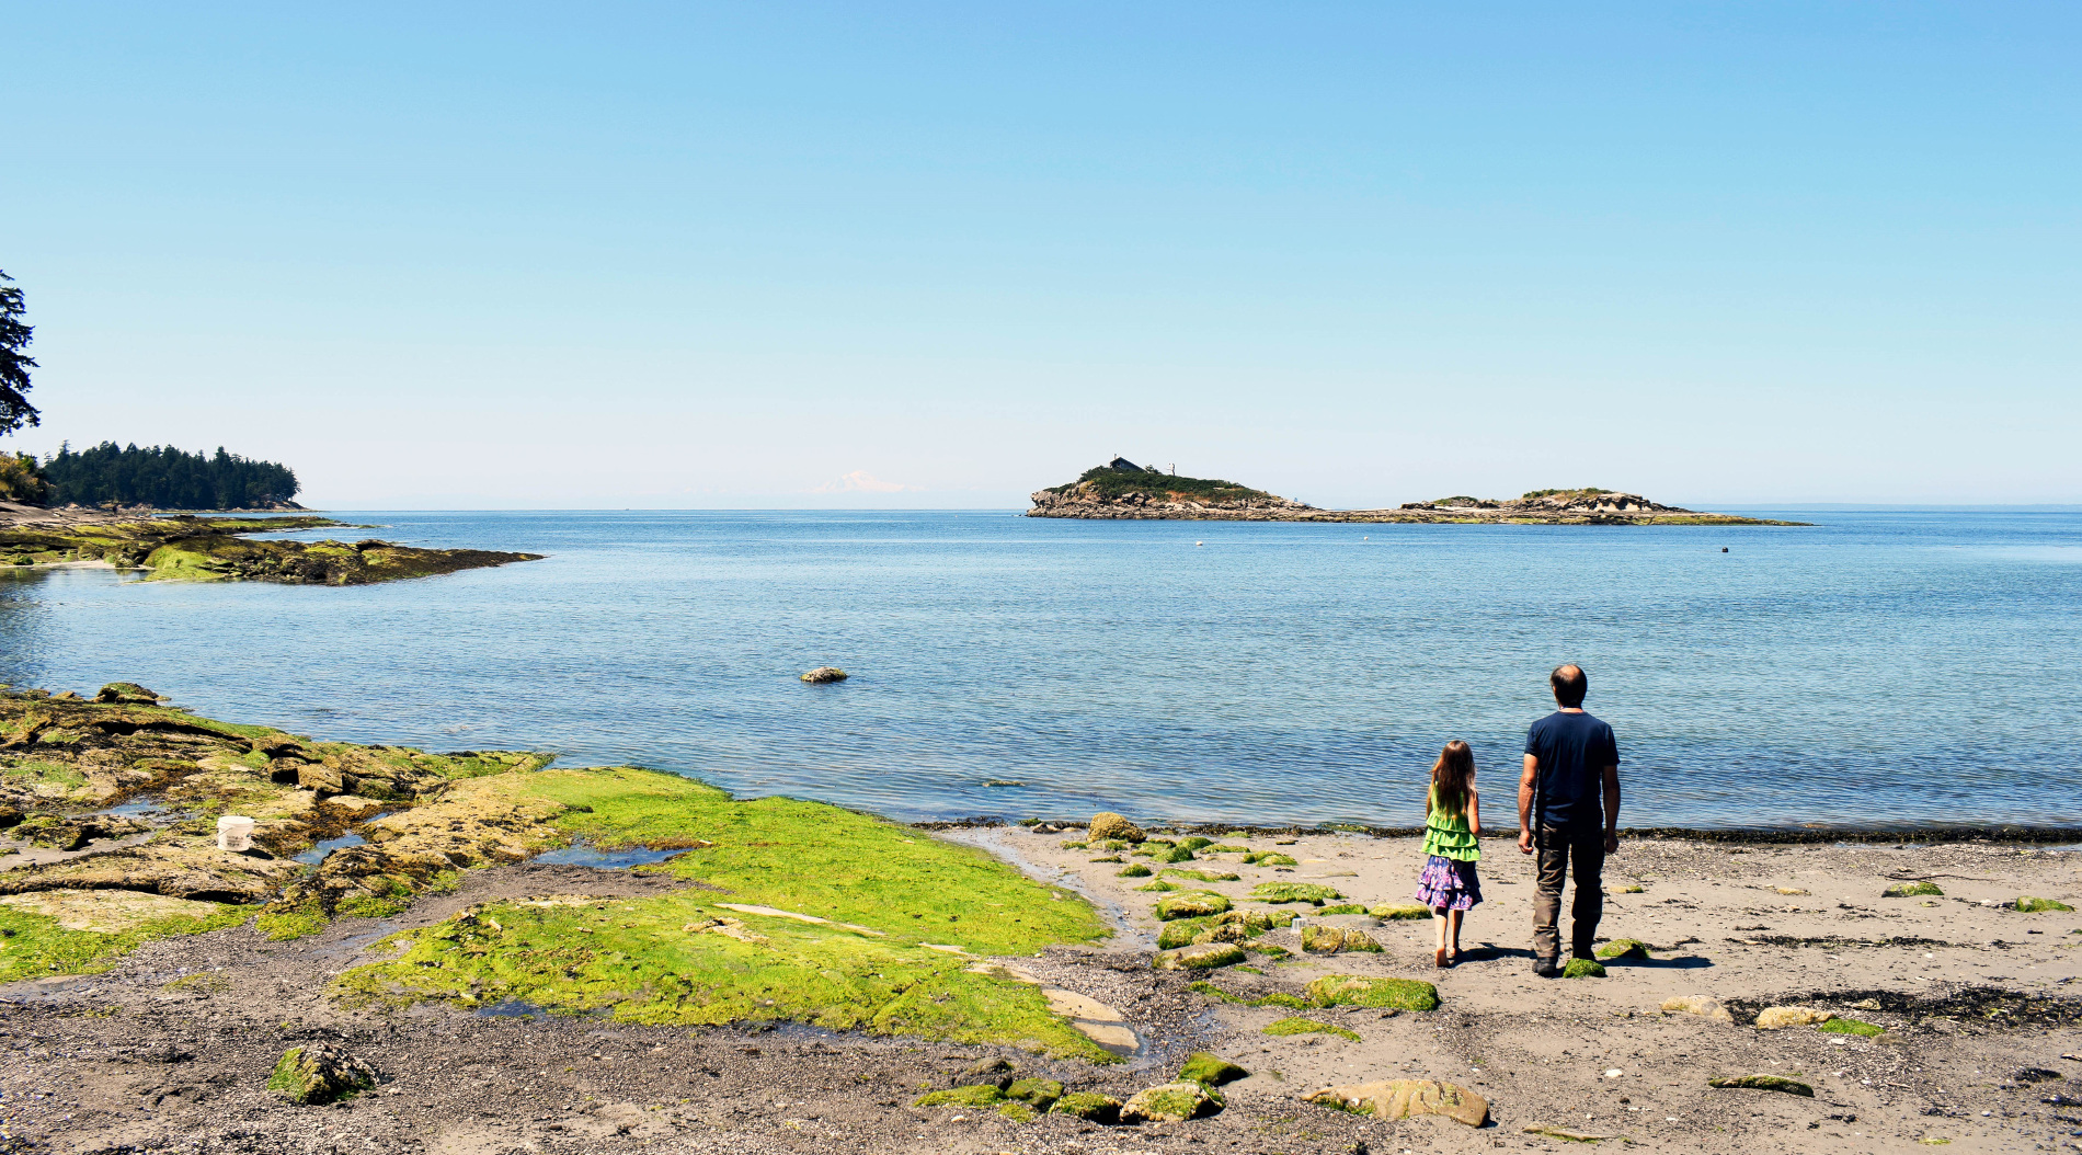
<path id="1" fill-rule="evenodd" d="M 277 462 L 227 454 L 189 454 L 173 445 L 58 447 L 42 464 L 50 502 L 81 506 L 156 506 L 162 510 L 258 510 L 296 497 L 296 472 Z"/>

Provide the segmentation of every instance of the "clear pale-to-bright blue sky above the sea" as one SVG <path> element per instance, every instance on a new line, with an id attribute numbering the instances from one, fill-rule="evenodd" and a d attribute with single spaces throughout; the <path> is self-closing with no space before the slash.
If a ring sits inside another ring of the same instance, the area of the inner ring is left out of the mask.
<path id="1" fill-rule="evenodd" d="M 323 8 L 0 8 L 19 447 L 2082 502 L 2076 4 Z"/>

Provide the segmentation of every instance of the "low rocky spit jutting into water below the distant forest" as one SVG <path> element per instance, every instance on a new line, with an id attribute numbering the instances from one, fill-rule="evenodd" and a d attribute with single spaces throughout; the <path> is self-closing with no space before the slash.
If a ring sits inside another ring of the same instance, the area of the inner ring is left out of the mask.
<path id="1" fill-rule="evenodd" d="M 256 541 L 256 533 L 373 529 L 316 514 L 135 516 L 83 510 L 0 510 L 0 570 L 8 566 L 106 564 L 144 570 L 144 581 L 266 581 L 279 585 L 373 585 L 452 574 L 541 554 L 423 549 L 393 541 Z"/>

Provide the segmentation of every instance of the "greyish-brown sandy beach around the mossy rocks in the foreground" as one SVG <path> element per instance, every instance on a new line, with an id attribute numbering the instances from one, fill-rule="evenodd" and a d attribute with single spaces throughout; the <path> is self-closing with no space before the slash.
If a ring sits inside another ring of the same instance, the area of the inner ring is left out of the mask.
<path id="1" fill-rule="evenodd" d="M 1318 918 L 1364 928 L 1380 953 L 1301 955 L 1293 930 L 1241 968 L 1149 966 L 1160 893 L 1118 878 L 1112 857 L 1068 847 L 1078 830 L 956 828 L 939 837 L 999 853 L 1089 895 L 1116 922 L 1097 947 L 999 959 L 1114 1007 L 1137 1034 L 1126 1063 L 1047 1061 L 1018 1049 L 808 1028 L 662 1028 L 600 1018 L 502 1018 L 443 1005 L 346 1011 L 323 984 L 396 928 L 468 903 L 537 893 L 643 893 L 643 874 L 502 866 L 391 920 L 341 918 L 325 934 L 269 943 L 250 926 L 154 941 L 90 978 L 0 991 L 0 1082 L 8 1149 L 90 1151 L 1559 1151 L 1603 1136 L 1670 1151 L 1955 1151 L 2072 1147 L 2082 1132 L 2082 916 L 2005 909 L 2020 895 L 2082 905 L 2078 859 L 2038 847 L 1741 845 L 1626 841 L 1607 864 L 1603 934 L 1653 945 L 1605 978 L 1541 980 L 1528 968 L 1530 862 L 1487 841 L 1489 901 L 1468 959 L 1430 966 L 1430 924 Z M 1335 887 L 1360 903 L 1405 901 L 1416 841 L 1364 835 L 1228 839 L 1295 866 L 1199 853 L 1189 880 L 1241 909 L 1258 882 Z M 1128 862 L 1145 862 L 1128 857 Z M 1160 868 L 1162 870 L 1162 868 Z M 1884 899 L 1901 878 L 1940 897 Z M 1624 893 L 1639 887 L 1639 893 Z M 1437 982 L 1434 1011 L 1251 1007 L 1326 974 Z M 196 978 L 202 976 L 202 978 Z M 1222 997 L 1195 991 L 1212 982 Z M 1664 1013 L 1711 997 L 1728 1020 Z M 1235 999 L 1235 1001 L 1226 1001 Z M 1884 1028 L 1757 1030 L 1772 1005 Z M 1303 1016 L 1339 1028 L 1270 1036 Z M 339 1041 L 389 1078 L 369 1097 L 291 1107 L 262 1088 L 285 1041 Z M 1166 1082 L 1193 1051 L 1249 1070 L 1226 1109 L 1191 1122 L 1099 1126 L 1064 1115 L 1010 1122 L 989 1109 L 914 1107 L 979 1059 L 1126 1099 Z M 1813 1097 L 1713 1088 L 1716 1076 L 1778 1074 Z M 1378 1122 L 1305 1103 L 1330 1084 L 1430 1078 L 1482 1095 L 1482 1128 L 1445 1118 Z M 1532 1128 L 1532 1130 L 1528 1130 Z M 1566 1132 L 1566 1136 L 1557 1134 Z M 1576 1136 L 1576 1138 L 1568 1138 Z"/>

